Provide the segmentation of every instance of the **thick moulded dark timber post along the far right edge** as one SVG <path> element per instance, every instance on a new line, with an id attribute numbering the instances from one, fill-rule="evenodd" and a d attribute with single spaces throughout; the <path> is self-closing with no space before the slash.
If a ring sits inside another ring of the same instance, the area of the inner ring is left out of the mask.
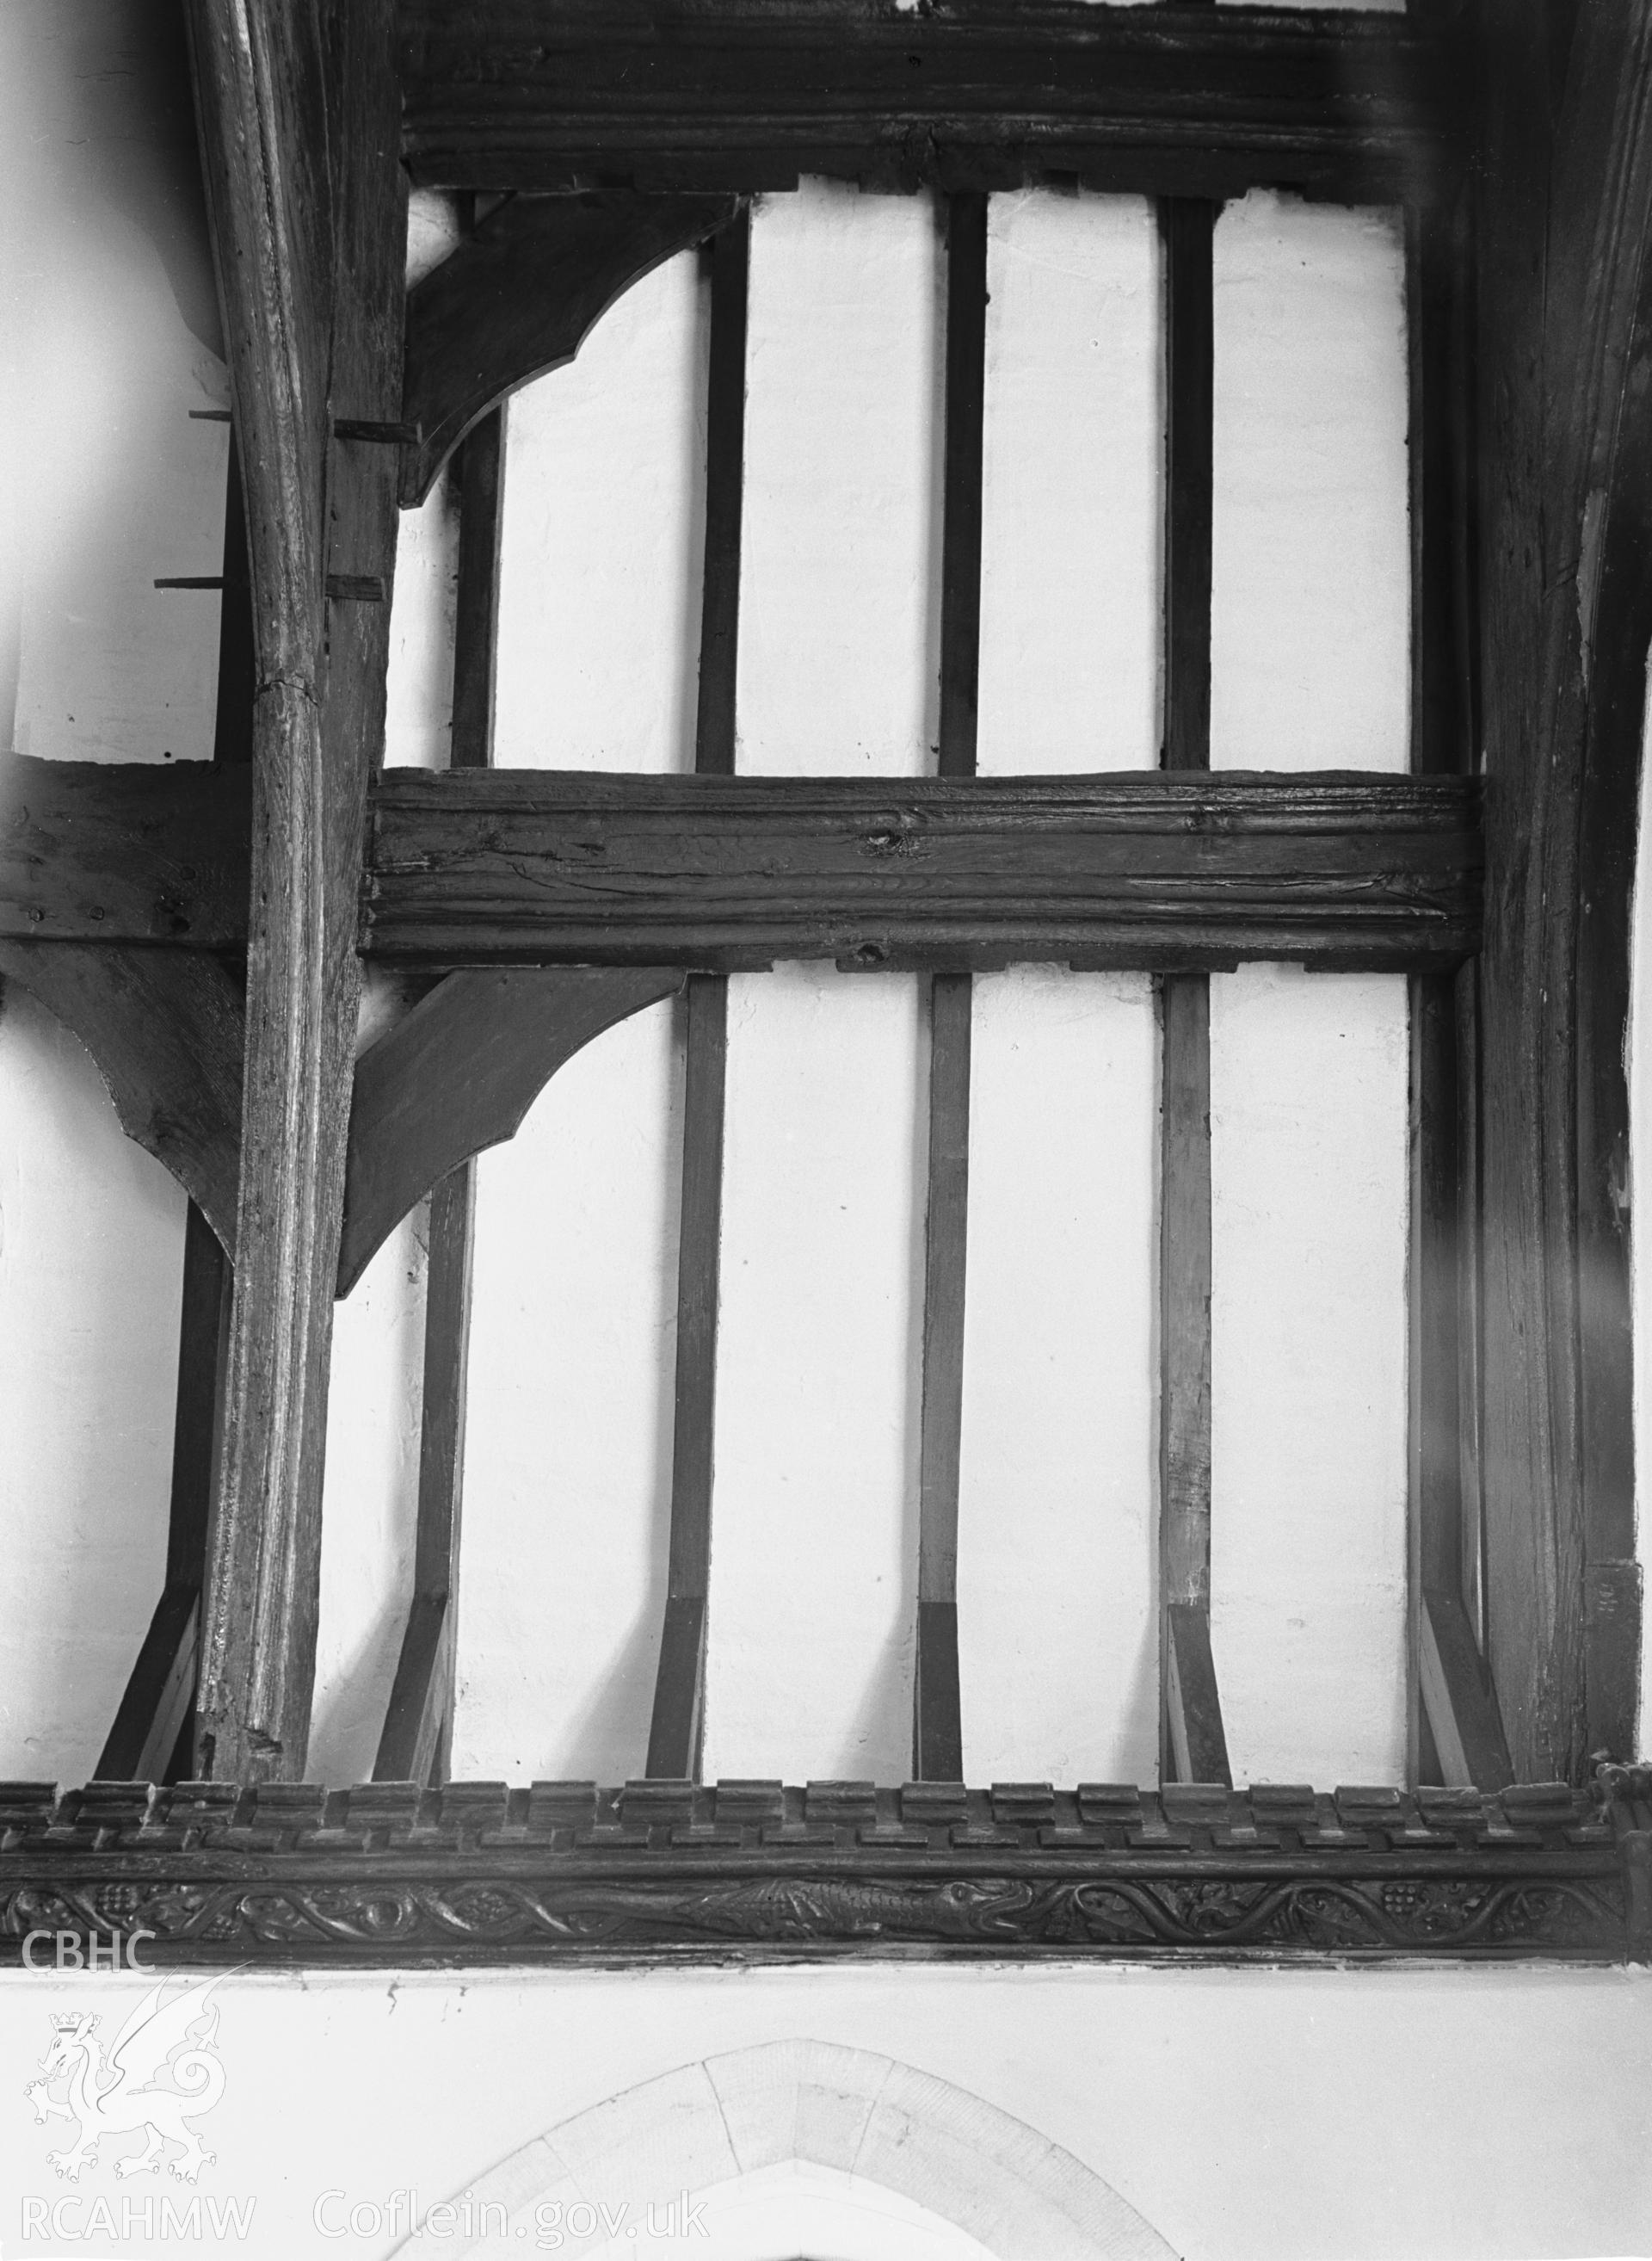
<path id="1" fill-rule="evenodd" d="M 1586 941 L 1582 904 L 1611 904 L 1607 834 L 1634 828 L 1638 746 L 1627 753 L 1625 733 L 1638 742 L 1641 687 L 1627 708 L 1605 690 L 1600 599 L 1611 520 L 1641 509 L 1645 418 L 1629 373 L 1652 215 L 1650 47 L 1643 11 L 1582 11 L 1557 43 L 1544 7 L 1498 9 L 1476 163 L 1489 1662 L 1516 1773 L 1573 1779 L 1596 1734 L 1625 1732 L 1616 1644 L 1634 1623 L 1632 1610 L 1591 1623 L 1589 1608 L 1596 1549 L 1602 1562 L 1627 1556 L 1609 995 L 1623 984 L 1607 972 L 1627 934 Z M 1596 712 L 1600 798 L 1586 812 Z M 1591 1671 L 1618 1691 L 1600 1707 Z"/>

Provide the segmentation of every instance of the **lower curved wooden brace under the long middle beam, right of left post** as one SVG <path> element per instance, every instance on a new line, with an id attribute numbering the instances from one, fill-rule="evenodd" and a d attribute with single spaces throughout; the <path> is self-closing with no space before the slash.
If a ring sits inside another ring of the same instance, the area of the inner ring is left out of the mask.
<path id="1" fill-rule="evenodd" d="M 447 974 L 357 1063 L 339 1296 L 450 1169 L 515 1137 L 563 1060 L 685 979 L 662 965 Z"/>

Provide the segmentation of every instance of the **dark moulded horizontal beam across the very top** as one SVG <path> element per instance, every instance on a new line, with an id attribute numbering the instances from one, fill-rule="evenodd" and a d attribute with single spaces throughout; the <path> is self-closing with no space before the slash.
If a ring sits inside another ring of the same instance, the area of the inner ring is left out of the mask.
<path id="1" fill-rule="evenodd" d="M 416 181 L 567 190 L 1259 183 L 1397 199 L 1433 172 L 1451 57 L 1388 16 L 1080 0 L 409 0 Z"/>

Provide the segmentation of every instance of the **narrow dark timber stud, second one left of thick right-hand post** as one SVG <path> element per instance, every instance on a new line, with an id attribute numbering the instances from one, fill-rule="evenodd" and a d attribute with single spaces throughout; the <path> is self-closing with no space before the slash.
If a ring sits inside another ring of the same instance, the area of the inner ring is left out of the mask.
<path id="1" fill-rule="evenodd" d="M 1164 242 L 1164 766 L 1211 762 L 1216 206 L 1159 203 Z M 1211 986 L 1159 990 L 1159 1775 L 1229 1782 L 1211 1657 Z"/>

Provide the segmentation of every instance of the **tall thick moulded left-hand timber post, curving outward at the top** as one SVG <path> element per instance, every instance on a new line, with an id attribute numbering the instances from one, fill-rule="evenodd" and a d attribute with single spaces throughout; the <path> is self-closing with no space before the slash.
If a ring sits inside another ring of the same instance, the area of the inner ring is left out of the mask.
<path id="1" fill-rule="evenodd" d="M 303 1773 L 357 884 L 382 744 L 405 192 L 389 0 L 190 0 L 258 651 L 246 1101 L 201 1648 L 201 1773 Z"/>

